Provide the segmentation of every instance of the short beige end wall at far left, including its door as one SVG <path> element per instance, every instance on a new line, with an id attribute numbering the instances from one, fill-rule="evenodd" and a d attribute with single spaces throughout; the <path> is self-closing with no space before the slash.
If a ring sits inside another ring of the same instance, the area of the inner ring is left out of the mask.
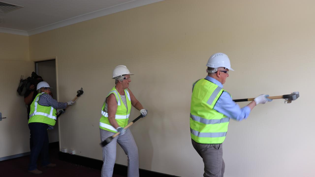
<path id="1" fill-rule="evenodd" d="M 29 60 L 28 37 L 0 33 L 0 158 L 30 151 L 24 97 L 16 89 L 21 75 L 34 71 Z"/>

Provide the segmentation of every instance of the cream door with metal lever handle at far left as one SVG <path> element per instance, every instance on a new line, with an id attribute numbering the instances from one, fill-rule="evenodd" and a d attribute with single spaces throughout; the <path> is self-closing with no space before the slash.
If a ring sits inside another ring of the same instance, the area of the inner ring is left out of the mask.
<path id="1" fill-rule="evenodd" d="M 30 130 L 24 96 L 17 93 L 21 75 L 31 76 L 34 62 L 0 60 L 0 161 L 30 152 Z"/>

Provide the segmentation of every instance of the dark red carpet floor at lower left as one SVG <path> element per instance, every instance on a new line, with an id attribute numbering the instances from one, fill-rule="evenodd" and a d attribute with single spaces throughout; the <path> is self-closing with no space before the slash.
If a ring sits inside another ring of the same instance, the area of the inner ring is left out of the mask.
<path id="1" fill-rule="evenodd" d="M 0 161 L 0 177 L 34 177 L 34 176 L 45 176 L 45 177 L 89 177 L 89 176 L 100 176 L 99 169 L 93 169 L 77 165 L 74 163 L 68 163 L 59 160 L 58 157 L 59 145 L 54 143 L 49 146 L 50 162 L 56 163 L 56 167 L 43 168 L 40 164 L 40 160 L 37 162 L 37 168 L 43 171 L 42 174 L 30 174 L 27 172 L 29 163 L 29 156 L 18 157 L 14 159 Z M 113 177 L 124 177 L 114 174 Z"/>

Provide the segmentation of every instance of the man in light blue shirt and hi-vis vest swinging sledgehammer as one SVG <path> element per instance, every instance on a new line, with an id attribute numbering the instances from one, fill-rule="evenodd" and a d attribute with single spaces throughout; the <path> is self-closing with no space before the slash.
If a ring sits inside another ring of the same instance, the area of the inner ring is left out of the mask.
<path id="1" fill-rule="evenodd" d="M 265 104 L 269 95 L 261 94 L 247 106 L 240 108 L 231 95 L 223 89 L 231 68 L 226 54 L 215 53 L 207 65 L 208 76 L 193 84 L 190 107 L 192 146 L 202 157 L 204 177 L 223 177 L 224 161 L 222 143 L 225 140 L 230 118 L 246 119 L 259 103 Z"/>

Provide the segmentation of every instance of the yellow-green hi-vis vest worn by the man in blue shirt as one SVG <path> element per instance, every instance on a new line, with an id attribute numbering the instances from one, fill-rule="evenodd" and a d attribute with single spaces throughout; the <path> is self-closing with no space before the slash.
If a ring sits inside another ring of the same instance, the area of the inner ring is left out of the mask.
<path id="1" fill-rule="evenodd" d="M 206 79 L 193 84 L 190 132 L 197 143 L 220 144 L 224 141 L 230 118 L 214 109 L 223 91 Z"/>

